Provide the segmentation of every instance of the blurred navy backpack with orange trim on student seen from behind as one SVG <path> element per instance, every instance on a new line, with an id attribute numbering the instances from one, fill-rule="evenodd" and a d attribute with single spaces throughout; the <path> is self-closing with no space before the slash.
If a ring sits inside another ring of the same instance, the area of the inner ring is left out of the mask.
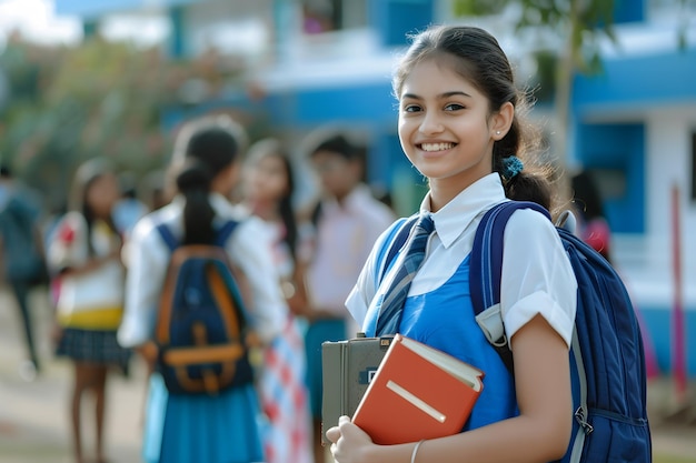
<path id="1" fill-rule="evenodd" d="M 171 256 L 155 328 L 155 365 L 171 394 L 215 395 L 253 381 L 247 312 L 223 248 L 236 227 L 226 223 L 210 245 L 180 245 L 166 225 L 157 227 Z"/>

